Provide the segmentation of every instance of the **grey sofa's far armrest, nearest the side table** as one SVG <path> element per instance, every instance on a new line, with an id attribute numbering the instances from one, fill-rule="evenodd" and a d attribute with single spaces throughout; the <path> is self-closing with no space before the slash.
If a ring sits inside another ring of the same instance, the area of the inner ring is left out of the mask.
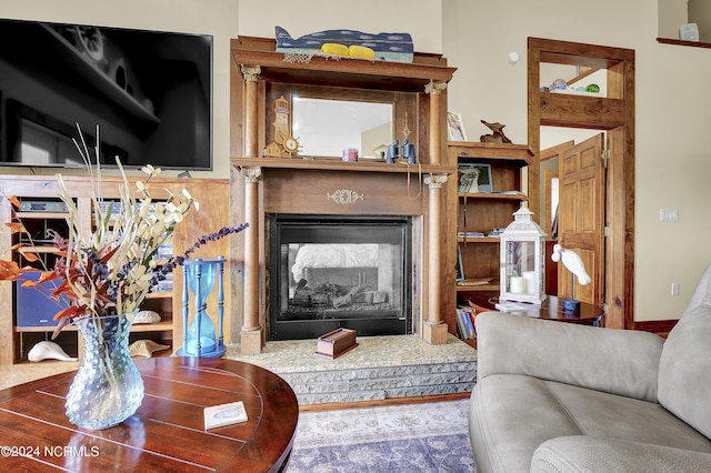
<path id="1" fill-rule="evenodd" d="M 502 312 L 483 312 L 475 323 L 480 380 L 524 374 L 657 402 L 663 339 L 653 333 Z"/>

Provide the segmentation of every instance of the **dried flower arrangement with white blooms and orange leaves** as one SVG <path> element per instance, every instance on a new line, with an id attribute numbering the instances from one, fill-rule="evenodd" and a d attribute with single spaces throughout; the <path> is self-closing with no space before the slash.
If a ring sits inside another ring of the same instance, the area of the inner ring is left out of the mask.
<path id="1" fill-rule="evenodd" d="M 182 265 L 197 248 L 241 232 L 248 227 L 247 223 L 224 227 L 214 233 L 203 235 L 182 255 L 173 256 L 159 265 L 159 248 L 171 238 L 176 225 L 183 221 L 192 208 L 199 210 L 199 203 L 184 189 L 179 195 L 168 191 L 169 198 L 166 201 L 153 201 L 150 180 L 158 175 L 160 169 L 152 165 L 142 169 L 148 175 L 144 180 L 137 181 L 137 198 L 118 159 L 117 164 L 123 179 L 120 201 L 104 201 L 101 168 L 98 163 L 99 149 L 94 149 L 94 164 L 81 130 L 79 135 L 81 144 L 77 140 L 73 141 L 89 171 L 94 229 L 90 231 L 81 225 L 79 211 L 62 175 L 56 174 L 60 187 L 59 198 L 68 209 L 69 234 L 66 238 L 57 232 L 48 235 L 58 251 L 54 266 L 42 270 L 29 265 L 21 268 L 12 259 L 0 259 L 0 281 L 23 281 L 22 285 L 26 288 L 36 288 L 56 301 L 63 299 L 69 302 L 69 308 L 60 310 L 54 315 L 54 320 L 58 321 L 54 336 L 68 323 L 82 316 L 134 312 L 156 285 L 174 268 Z M 16 197 L 8 199 L 16 208 L 20 207 Z M 116 204 L 119 205 L 118 212 L 112 209 Z M 12 233 L 24 233 L 29 238 L 29 242 L 17 243 L 10 251 L 21 252 L 28 262 L 41 262 L 40 254 L 22 222 L 12 220 L 6 222 L 6 227 Z M 23 276 L 28 272 L 37 271 L 41 271 L 39 279 Z M 53 281 L 52 289 L 44 284 L 50 281 Z"/>

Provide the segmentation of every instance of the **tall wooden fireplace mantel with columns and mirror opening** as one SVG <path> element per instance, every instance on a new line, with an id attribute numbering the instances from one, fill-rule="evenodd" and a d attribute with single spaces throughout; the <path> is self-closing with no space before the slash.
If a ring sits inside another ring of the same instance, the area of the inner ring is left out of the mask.
<path id="1" fill-rule="evenodd" d="M 432 344 L 445 343 L 444 313 L 454 304 L 448 288 L 455 278 L 454 255 L 445 244 L 455 233 L 454 219 L 447 215 L 453 213 L 457 195 L 457 179 L 449 179 L 457 165 L 447 154 L 447 83 L 455 69 L 439 54 L 422 53 L 412 63 L 319 56 L 293 62 L 276 51 L 273 39 L 263 38 L 240 37 L 231 48 L 231 221 L 250 224 L 243 244 L 231 250 L 233 260 L 243 262 L 242 278 L 233 278 L 231 288 L 234 305 L 243 308 L 242 353 L 260 353 L 266 342 L 266 215 L 271 212 L 415 218 L 414 332 Z M 300 91 L 350 101 L 377 95 L 393 103 L 393 139 L 403 138 L 400 130 L 411 130 L 418 164 L 266 157 L 268 145 L 281 144 L 272 125 L 274 101 L 291 103 L 291 94 Z M 363 199 L 328 200 L 343 190 Z"/>

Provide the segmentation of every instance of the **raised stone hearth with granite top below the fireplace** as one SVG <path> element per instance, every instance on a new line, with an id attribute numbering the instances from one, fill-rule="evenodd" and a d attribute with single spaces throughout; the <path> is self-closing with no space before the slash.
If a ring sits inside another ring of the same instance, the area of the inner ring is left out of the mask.
<path id="1" fill-rule="evenodd" d="M 337 359 L 317 355 L 314 340 L 268 342 L 259 355 L 230 345 L 226 358 L 283 378 L 300 405 L 379 401 L 471 392 L 477 351 L 449 335 L 432 345 L 414 335 L 358 338 L 359 346 Z"/>

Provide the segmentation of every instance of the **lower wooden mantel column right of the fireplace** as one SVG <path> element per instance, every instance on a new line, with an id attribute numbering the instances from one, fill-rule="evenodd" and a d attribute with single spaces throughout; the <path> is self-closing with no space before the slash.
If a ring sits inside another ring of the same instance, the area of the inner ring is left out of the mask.
<path id="1" fill-rule="evenodd" d="M 429 281 L 428 311 L 422 338 L 433 345 L 447 343 L 447 323 L 442 314 L 442 185 L 447 174 L 430 174 L 424 183 L 430 188 L 430 221 L 428 232 Z"/>

